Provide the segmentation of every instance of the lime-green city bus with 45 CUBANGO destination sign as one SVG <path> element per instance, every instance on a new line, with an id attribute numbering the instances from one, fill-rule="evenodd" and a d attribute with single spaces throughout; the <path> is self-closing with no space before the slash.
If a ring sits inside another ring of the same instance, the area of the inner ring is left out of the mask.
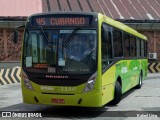
<path id="1" fill-rule="evenodd" d="M 101 13 L 39 13 L 24 28 L 24 103 L 115 105 L 147 76 L 147 38 Z"/>

